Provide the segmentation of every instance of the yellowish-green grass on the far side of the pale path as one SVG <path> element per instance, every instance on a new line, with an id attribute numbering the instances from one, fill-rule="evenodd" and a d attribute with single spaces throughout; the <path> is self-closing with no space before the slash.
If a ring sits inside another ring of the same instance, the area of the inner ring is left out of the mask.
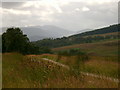
<path id="1" fill-rule="evenodd" d="M 57 59 L 56 56 L 48 56 Z M 76 68 L 77 57 L 76 56 L 61 56 L 60 63 L 68 65 L 71 68 Z M 118 78 L 118 57 L 117 56 L 89 56 L 89 60 L 86 62 L 80 62 L 78 65 L 82 65 L 81 70 L 83 72 L 94 73 L 107 77 Z M 75 69 L 74 69 L 75 70 Z"/>

